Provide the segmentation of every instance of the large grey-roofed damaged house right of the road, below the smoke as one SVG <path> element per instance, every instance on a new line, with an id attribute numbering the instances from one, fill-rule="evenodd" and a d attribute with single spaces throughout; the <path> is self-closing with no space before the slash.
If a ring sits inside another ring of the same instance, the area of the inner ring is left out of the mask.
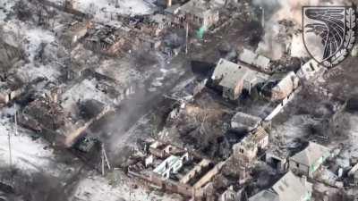
<path id="1" fill-rule="evenodd" d="M 236 100 L 243 91 L 251 94 L 251 91 L 264 83 L 268 77 L 265 73 L 251 70 L 243 63 L 232 63 L 220 59 L 211 79 L 222 89 L 225 98 Z"/>

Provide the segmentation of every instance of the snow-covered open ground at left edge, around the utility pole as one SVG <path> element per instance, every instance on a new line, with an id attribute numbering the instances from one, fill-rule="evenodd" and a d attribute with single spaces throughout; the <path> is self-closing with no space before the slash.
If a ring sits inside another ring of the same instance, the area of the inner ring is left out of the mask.
<path id="1" fill-rule="evenodd" d="M 5 113 L 13 113 L 13 109 L 7 109 Z M 30 130 L 21 129 L 19 126 L 16 135 L 14 122 L 4 117 L 4 112 L 0 116 L 0 169 L 9 168 L 9 135 L 13 169 L 29 175 L 46 172 L 48 175 L 62 179 L 67 178 L 77 169 L 78 163 L 70 165 L 61 162 L 48 142 L 42 138 L 32 138 L 35 135 Z"/>

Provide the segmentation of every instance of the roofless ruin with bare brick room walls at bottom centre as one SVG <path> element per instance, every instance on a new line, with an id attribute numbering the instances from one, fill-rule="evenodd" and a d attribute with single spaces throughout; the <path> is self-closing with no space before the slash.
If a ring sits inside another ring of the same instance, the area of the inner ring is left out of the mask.
<path id="1" fill-rule="evenodd" d="M 195 152 L 166 142 L 149 144 L 148 153 L 132 163 L 128 172 L 153 185 L 183 197 L 211 197 L 210 180 L 220 172 L 223 163 L 214 163 Z"/>

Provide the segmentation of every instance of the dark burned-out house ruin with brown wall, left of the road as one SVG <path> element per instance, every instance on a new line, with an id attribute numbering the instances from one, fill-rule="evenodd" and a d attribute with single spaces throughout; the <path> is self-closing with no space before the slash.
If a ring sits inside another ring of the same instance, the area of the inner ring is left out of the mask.
<path id="1" fill-rule="evenodd" d="M 93 107 L 90 110 L 92 111 Z M 47 98 L 38 98 L 22 110 L 19 114 L 19 123 L 25 128 L 37 131 L 55 146 L 72 147 L 83 137 L 90 124 L 108 111 L 108 108 L 103 108 L 91 118 L 79 116 L 78 119 L 74 119 L 57 103 Z"/>

